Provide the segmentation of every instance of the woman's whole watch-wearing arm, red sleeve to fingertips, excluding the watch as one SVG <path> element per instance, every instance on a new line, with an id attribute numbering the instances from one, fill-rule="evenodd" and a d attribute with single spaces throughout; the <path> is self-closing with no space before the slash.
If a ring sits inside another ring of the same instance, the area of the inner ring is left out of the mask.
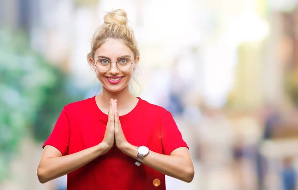
<path id="1" fill-rule="evenodd" d="M 137 159 L 138 147 L 127 142 L 125 138 L 119 121 L 117 101 L 115 109 L 116 146 L 123 153 Z M 144 157 L 143 163 L 162 174 L 190 183 L 195 173 L 192 159 L 188 149 L 183 147 L 186 143 L 183 141 L 181 133 L 169 112 L 166 114 L 166 117 L 163 117 L 161 126 L 163 126 L 160 133 L 163 137 L 162 144 L 164 145 L 163 150 L 165 154 L 150 151 Z"/>

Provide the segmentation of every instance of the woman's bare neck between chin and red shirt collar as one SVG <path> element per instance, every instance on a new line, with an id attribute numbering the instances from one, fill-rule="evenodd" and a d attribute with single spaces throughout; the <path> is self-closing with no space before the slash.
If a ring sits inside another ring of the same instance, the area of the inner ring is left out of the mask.
<path id="1" fill-rule="evenodd" d="M 102 91 L 97 95 L 100 99 L 101 105 L 109 108 L 110 99 L 117 100 L 117 107 L 120 109 L 125 108 L 126 105 L 130 104 L 136 97 L 129 92 L 129 86 L 127 85 L 124 89 L 119 92 L 111 92 L 102 86 Z"/>

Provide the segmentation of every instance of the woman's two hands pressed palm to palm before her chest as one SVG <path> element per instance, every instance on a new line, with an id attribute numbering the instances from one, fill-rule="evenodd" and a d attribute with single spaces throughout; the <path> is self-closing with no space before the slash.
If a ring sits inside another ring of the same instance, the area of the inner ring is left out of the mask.
<path id="1" fill-rule="evenodd" d="M 106 147 L 107 151 L 113 147 L 114 143 L 121 151 L 128 144 L 119 121 L 117 100 L 110 100 L 108 123 L 101 143 Z"/>

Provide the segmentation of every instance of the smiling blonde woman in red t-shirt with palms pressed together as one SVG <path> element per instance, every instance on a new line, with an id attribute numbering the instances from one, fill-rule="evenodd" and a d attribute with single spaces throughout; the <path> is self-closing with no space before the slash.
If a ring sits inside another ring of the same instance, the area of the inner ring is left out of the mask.
<path id="1" fill-rule="evenodd" d="M 172 115 L 129 91 L 139 55 L 126 12 L 107 13 L 87 55 L 102 92 L 64 107 L 43 145 L 41 183 L 65 174 L 68 190 L 165 190 L 164 175 L 192 181 Z"/>

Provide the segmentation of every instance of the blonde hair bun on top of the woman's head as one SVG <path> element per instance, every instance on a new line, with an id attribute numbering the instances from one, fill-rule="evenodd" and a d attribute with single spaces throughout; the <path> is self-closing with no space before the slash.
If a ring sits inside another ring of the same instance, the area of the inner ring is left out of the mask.
<path id="1" fill-rule="evenodd" d="M 104 16 L 105 24 L 121 24 L 126 26 L 127 22 L 127 14 L 123 9 L 113 10 Z"/>

